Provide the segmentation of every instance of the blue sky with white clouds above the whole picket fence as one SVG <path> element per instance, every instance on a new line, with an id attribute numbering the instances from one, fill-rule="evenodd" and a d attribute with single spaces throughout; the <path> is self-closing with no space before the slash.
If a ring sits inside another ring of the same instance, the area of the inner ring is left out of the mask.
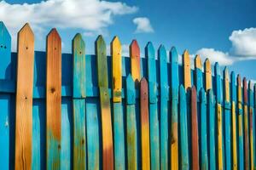
<path id="1" fill-rule="evenodd" d="M 256 80 L 255 8 L 254 0 L 6 0 L 0 2 L 0 20 L 9 27 L 14 47 L 16 32 L 28 21 L 37 50 L 44 50 L 51 27 L 60 32 L 67 53 L 76 32 L 83 34 L 90 54 L 98 34 L 108 44 L 117 35 L 125 55 L 136 38 L 142 54 L 148 41 L 155 48 L 175 46 L 179 54 L 189 49 L 191 58 L 201 54 Z"/>

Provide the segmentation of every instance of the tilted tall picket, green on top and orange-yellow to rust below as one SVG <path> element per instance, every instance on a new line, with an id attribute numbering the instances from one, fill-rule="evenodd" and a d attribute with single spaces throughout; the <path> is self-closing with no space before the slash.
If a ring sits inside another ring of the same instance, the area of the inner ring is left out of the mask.
<path id="1" fill-rule="evenodd" d="M 108 64 L 106 43 L 102 36 L 96 39 L 96 63 L 102 116 L 102 168 L 113 169 L 113 135 L 108 94 Z"/>

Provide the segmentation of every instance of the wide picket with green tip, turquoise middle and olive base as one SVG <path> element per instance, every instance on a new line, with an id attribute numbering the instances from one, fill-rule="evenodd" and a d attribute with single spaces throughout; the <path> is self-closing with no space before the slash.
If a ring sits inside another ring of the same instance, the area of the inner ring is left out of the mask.
<path id="1" fill-rule="evenodd" d="M 86 168 L 85 70 L 85 43 L 77 34 L 73 38 L 73 169 Z"/>

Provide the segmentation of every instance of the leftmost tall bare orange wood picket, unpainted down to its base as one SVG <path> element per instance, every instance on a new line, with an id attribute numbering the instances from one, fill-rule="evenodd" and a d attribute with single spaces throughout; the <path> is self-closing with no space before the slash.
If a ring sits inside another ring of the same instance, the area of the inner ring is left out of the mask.
<path id="1" fill-rule="evenodd" d="M 26 23 L 18 33 L 15 169 L 32 168 L 34 34 Z"/>

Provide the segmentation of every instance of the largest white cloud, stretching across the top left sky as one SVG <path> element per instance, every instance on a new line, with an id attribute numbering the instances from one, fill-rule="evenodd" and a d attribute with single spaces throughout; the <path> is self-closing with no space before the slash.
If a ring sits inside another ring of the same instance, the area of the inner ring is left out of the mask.
<path id="1" fill-rule="evenodd" d="M 14 31 L 26 22 L 37 31 L 46 26 L 101 31 L 113 24 L 114 15 L 135 12 L 137 7 L 100 0 L 48 0 L 32 4 L 0 2 L 0 20 Z"/>

